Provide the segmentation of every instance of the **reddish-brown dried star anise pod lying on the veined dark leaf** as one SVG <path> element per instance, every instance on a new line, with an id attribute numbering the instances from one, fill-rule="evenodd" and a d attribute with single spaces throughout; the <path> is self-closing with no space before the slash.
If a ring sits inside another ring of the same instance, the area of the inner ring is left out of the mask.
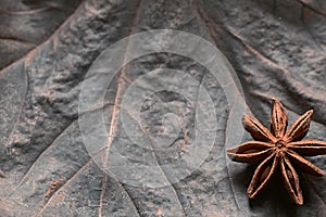
<path id="1" fill-rule="evenodd" d="M 303 204 L 299 176 L 302 173 L 323 176 L 324 171 L 303 156 L 326 154 L 326 142 L 305 139 L 313 111 L 301 115 L 286 131 L 288 117 L 278 99 L 273 98 L 271 131 L 251 116 L 244 115 L 242 124 L 255 141 L 227 149 L 227 155 L 235 162 L 259 164 L 248 188 L 250 199 L 262 192 L 273 175 L 280 171 L 286 190 L 298 205 Z M 302 141 L 301 141 L 302 140 Z"/>

